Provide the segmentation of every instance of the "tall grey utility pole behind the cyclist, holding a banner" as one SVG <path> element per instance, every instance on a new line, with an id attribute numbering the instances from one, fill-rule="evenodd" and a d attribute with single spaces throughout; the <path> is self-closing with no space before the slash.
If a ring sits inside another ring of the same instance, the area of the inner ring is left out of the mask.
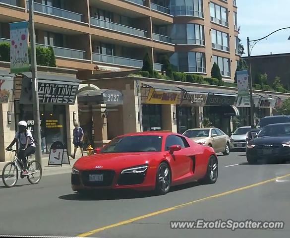
<path id="1" fill-rule="evenodd" d="M 32 74 L 31 79 L 32 79 L 34 136 L 38 142 L 38 145 L 36 146 L 36 151 L 35 151 L 35 159 L 42 165 L 33 0 L 29 0 L 28 4 L 29 4 L 29 7 L 28 7 L 29 9 L 29 38 L 30 38 L 30 49 L 31 49 L 31 74 Z"/>

